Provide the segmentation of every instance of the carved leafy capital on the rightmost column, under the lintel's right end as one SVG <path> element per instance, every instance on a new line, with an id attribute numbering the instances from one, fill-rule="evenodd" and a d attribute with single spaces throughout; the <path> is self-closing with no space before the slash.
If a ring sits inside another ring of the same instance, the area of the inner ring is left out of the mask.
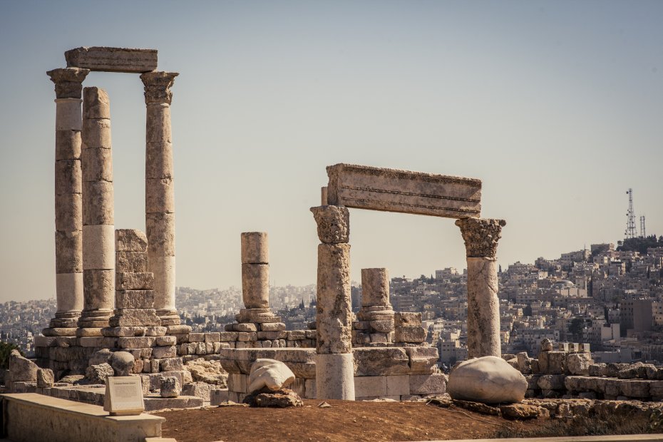
<path id="1" fill-rule="evenodd" d="M 502 237 L 502 227 L 506 225 L 505 220 L 462 218 L 456 220 L 456 225 L 461 227 L 468 258 L 495 257 L 498 241 Z"/>

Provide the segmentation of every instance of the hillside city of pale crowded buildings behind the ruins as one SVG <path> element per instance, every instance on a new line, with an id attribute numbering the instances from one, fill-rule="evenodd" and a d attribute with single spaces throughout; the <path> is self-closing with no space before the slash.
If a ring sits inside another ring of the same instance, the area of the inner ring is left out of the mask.
<path id="1" fill-rule="evenodd" d="M 538 353 L 544 338 L 589 344 L 597 362 L 663 361 L 663 237 L 594 244 L 555 259 L 515 262 L 498 273 L 503 354 Z M 315 284 L 270 287 L 270 304 L 287 329 L 315 321 Z M 361 286 L 351 288 L 353 311 Z M 391 278 L 397 312 L 421 312 L 426 340 L 443 369 L 467 357 L 466 270 Z M 180 317 L 194 332 L 217 332 L 235 321 L 242 288 L 178 287 Z M 48 327 L 55 299 L 0 304 L 0 340 L 34 353 L 34 335 Z"/>

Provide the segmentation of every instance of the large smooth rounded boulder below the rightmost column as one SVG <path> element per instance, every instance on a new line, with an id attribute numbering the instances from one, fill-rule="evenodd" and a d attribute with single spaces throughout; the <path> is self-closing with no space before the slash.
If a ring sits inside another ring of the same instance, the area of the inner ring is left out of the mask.
<path id="1" fill-rule="evenodd" d="M 447 392 L 453 399 L 484 404 L 513 404 L 525 399 L 527 380 L 497 356 L 457 364 L 449 374 Z"/>

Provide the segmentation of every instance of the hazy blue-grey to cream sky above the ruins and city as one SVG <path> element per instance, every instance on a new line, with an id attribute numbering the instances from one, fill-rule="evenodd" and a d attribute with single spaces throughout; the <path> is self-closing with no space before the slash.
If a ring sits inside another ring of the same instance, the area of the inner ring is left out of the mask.
<path id="1" fill-rule="evenodd" d="M 55 104 L 78 46 L 157 48 L 173 87 L 177 284 L 240 284 L 240 232 L 272 282 L 315 282 L 325 166 L 483 180 L 503 266 L 617 242 L 626 190 L 663 235 L 661 1 L 0 0 L 0 302 L 55 293 Z M 111 97 L 115 226 L 145 229 L 145 104 Z M 453 220 L 351 210 L 352 277 L 465 267 Z"/>

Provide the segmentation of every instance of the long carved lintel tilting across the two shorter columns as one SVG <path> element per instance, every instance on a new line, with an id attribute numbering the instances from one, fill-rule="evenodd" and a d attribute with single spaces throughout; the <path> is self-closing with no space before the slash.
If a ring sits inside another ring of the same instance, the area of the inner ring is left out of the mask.
<path id="1" fill-rule="evenodd" d="M 327 167 L 327 202 L 438 217 L 478 217 L 481 181 L 361 165 Z"/>

